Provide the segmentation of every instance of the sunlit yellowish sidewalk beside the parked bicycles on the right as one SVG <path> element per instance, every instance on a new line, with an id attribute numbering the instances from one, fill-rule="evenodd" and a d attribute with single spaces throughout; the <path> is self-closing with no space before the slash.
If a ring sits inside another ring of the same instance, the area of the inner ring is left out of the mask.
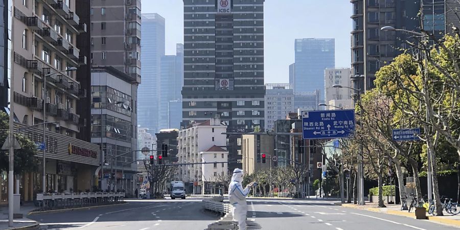
<path id="1" fill-rule="evenodd" d="M 385 204 L 386 208 L 379 208 L 377 203 L 366 203 L 366 205 L 358 205 L 353 203 L 339 203 L 336 202 L 336 205 L 341 205 L 346 208 L 353 209 L 362 209 L 378 213 L 386 213 L 397 216 L 405 216 L 410 218 L 415 218 L 415 211 L 408 212 L 407 210 L 401 211 L 401 204 Z M 426 213 L 426 218 L 433 222 L 439 222 L 447 225 L 460 226 L 460 215 L 452 215 L 446 212 L 443 213 L 444 216 L 432 216 Z"/>

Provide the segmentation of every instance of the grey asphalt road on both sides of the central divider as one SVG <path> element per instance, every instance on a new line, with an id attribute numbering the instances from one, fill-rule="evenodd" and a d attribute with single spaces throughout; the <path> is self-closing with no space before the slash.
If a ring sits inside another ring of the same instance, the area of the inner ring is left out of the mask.
<path id="1" fill-rule="evenodd" d="M 426 220 L 343 208 L 323 200 L 248 199 L 249 229 L 450 230 Z M 219 219 L 201 208 L 201 199 L 130 200 L 127 204 L 33 215 L 42 229 L 205 229 Z"/>

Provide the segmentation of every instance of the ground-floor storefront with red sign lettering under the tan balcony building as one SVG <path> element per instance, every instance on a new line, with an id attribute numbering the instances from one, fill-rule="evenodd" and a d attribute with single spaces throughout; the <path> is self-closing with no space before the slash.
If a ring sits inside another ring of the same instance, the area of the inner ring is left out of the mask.
<path id="1" fill-rule="evenodd" d="M 42 142 L 39 129 L 24 132 L 31 141 Z M 97 184 L 95 172 L 99 167 L 99 146 L 56 132 L 47 132 L 45 191 L 59 193 L 89 192 Z M 23 201 L 33 201 L 42 192 L 42 151 L 37 150 L 38 171 L 29 172 L 19 180 Z M 15 183 L 16 185 L 16 183 Z M 0 173 L 0 204 L 8 202 L 8 172 Z"/>

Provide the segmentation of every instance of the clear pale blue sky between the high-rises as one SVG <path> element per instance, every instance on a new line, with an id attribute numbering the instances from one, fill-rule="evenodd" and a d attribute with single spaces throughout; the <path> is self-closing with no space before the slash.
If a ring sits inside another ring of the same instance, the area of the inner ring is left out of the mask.
<path id="1" fill-rule="evenodd" d="M 142 13 L 166 19 L 166 54 L 183 43 L 182 0 L 142 0 Z M 289 82 L 294 39 L 335 38 L 336 67 L 350 67 L 352 4 L 349 0 L 266 0 L 265 82 Z"/>

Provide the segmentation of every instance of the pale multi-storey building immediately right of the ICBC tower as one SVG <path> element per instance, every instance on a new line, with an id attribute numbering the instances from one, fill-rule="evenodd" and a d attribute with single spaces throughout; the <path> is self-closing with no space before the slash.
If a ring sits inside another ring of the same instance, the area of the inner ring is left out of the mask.
<path id="1" fill-rule="evenodd" d="M 290 84 L 265 84 L 265 130 L 294 111 L 294 90 Z"/>

